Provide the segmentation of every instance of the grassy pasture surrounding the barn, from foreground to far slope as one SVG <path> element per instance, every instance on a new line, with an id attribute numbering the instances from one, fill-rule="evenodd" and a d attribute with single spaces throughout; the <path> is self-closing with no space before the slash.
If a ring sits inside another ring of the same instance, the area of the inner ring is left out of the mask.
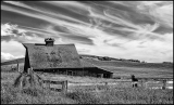
<path id="1" fill-rule="evenodd" d="M 14 88 L 18 73 L 12 65 L 1 65 L 1 103 L 2 104 L 173 104 L 173 89 L 152 89 L 161 87 L 161 82 L 146 81 L 151 88 L 132 88 L 130 75 L 137 78 L 172 78 L 173 65 L 124 62 L 88 62 L 112 70 L 114 79 L 65 76 L 37 73 L 42 79 L 69 81 L 66 93 L 58 90 L 28 87 Z M 23 69 L 24 63 L 20 64 Z M 104 83 L 108 83 L 107 86 Z M 173 84 L 173 83 L 172 83 Z M 139 86 L 139 84 L 138 84 Z M 51 88 L 60 88 L 51 86 Z"/>

